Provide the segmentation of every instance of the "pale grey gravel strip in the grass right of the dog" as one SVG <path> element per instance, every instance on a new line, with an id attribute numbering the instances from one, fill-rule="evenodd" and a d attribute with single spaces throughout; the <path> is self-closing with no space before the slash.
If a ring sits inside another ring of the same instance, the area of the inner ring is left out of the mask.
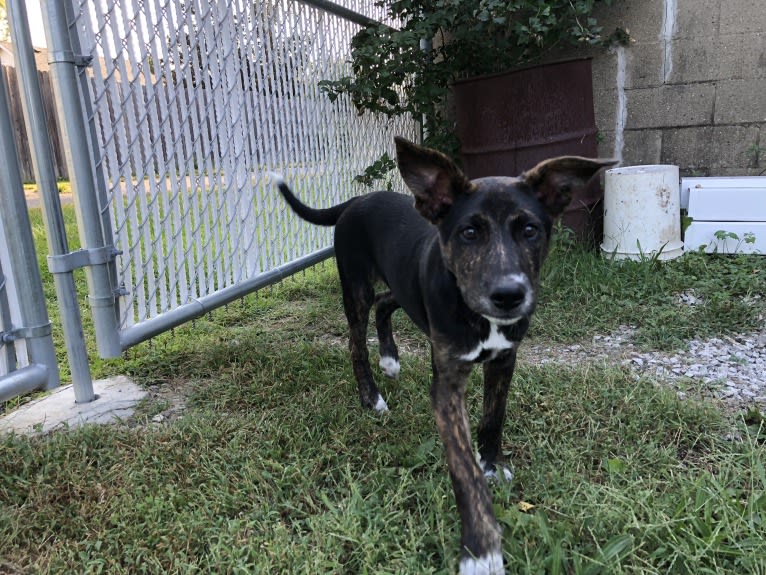
<path id="1" fill-rule="evenodd" d="M 592 341 L 553 346 L 522 343 L 519 354 L 531 363 L 610 363 L 637 377 L 669 384 L 679 397 L 706 397 L 727 408 L 766 411 L 766 329 L 761 332 L 693 339 L 684 351 L 642 350 L 634 343 L 636 328 L 620 326 Z"/>

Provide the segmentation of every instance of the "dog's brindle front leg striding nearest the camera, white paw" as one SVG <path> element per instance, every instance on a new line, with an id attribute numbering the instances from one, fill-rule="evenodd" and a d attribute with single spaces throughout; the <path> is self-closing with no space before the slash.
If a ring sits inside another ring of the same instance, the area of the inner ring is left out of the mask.
<path id="1" fill-rule="evenodd" d="M 473 456 L 465 406 L 465 386 L 471 364 L 440 359 L 435 350 L 432 353 L 431 403 L 460 513 L 460 574 L 501 574 L 505 571 L 500 527 L 492 513 L 484 473 Z"/>

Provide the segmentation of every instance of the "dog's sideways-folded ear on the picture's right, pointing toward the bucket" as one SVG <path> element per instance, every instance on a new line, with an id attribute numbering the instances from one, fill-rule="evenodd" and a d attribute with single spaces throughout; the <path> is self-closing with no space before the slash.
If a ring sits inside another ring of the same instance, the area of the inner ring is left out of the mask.
<path id="1" fill-rule="evenodd" d="M 555 218 L 564 212 L 574 193 L 587 186 L 599 170 L 616 163 L 617 160 L 562 156 L 540 162 L 524 172 L 521 179 L 534 190 L 548 215 Z"/>

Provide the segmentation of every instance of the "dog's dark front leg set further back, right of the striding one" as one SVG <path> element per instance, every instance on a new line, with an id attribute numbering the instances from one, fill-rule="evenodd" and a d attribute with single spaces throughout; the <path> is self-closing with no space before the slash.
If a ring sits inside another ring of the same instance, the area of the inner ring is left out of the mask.
<path id="1" fill-rule="evenodd" d="M 500 445 L 503 438 L 505 406 L 516 365 L 516 349 L 484 364 L 484 405 L 477 433 L 479 464 L 487 477 L 510 481 L 510 468 L 503 461 Z"/>

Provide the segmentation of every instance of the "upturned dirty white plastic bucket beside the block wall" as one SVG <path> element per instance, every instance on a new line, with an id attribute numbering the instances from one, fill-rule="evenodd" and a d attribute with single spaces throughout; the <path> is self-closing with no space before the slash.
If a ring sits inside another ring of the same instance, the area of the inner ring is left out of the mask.
<path id="1" fill-rule="evenodd" d="M 601 250 L 616 259 L 680 256 L 684 246 L 680 203 L 678 166 L 607 170 Z"/>

